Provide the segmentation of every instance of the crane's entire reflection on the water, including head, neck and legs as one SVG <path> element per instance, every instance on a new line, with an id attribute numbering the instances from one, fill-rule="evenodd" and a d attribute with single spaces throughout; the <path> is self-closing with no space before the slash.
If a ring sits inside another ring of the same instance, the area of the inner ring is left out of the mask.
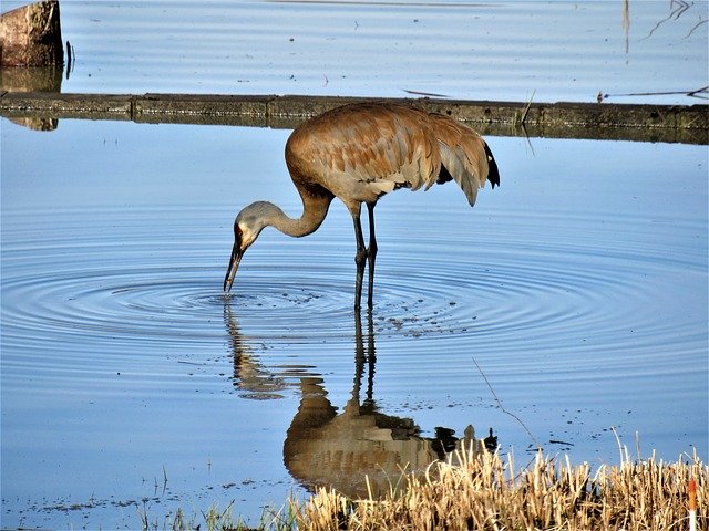
<path id="1" fill-rule="evenodd" d="M 462 437 L 436 427 L 424 437 L 413 419 L 388 415 L 374 398 L 376 337 L 371 313 L 367 331 L 354 319 L 354 377 L 351 397 L 341 412 L 328 398 L 323 378 L 312 367 L 266 367 L 239 332 L 228 301 L 224 317 L 234 357 L 234 386 L 248 398 L 278 398 L 294 387 L 300 404 L 284 441 L 284 462 L 305 488 L 332 487 L 351 498 L 379 497 L 403 487 L 402 471 L 423 471 L 456 450 L 494 449 L 496 437 L 475 437 L 469 425 Z"/>

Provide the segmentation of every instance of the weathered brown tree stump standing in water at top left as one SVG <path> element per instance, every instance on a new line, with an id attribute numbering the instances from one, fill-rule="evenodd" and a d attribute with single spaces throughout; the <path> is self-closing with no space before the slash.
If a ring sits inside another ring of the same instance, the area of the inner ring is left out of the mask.
<path id="1" fill-rule="evenodd" d="M 44 0 L 0 15 L 0 66 L 64 64 L 59 0 Z"/>

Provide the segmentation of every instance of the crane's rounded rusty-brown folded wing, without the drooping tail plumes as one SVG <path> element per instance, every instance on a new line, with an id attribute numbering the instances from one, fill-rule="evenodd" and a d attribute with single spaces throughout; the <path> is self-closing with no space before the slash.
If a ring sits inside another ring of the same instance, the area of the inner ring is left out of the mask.
<path id="1" fill-rule="evenodd" d="M 345 202 L 429 187 L 441 159 L 425 121 L 425 113 L 402 105 L 339 107 L 294 132 L 287 160 L 294 168 L 302 165 L 300 175 L 311 176 Z"/>

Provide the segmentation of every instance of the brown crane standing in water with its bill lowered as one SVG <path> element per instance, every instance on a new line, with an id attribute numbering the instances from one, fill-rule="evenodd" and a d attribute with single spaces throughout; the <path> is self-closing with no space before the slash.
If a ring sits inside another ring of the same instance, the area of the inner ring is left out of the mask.
<path id="1" fill-rule="evenodd" d="M 377 256 L 374 206 L 381 196 L 398 188 L 428 189 L 455 180 L 473 206 L 485 179 L 493 188 L 500 184 L 492 152 L 477 133 L 451 117 L 393 103 L 345 105 L 301 124 L 286 144 L 286 164 L 302 199 L 302 215 L 289 218 L 268 201 L 254 202 L 238 214 L 224 279 L 227 292 L 244 252 L 265 227 L 294 237 L 309 235 L 320 227 L 337 197 L 354 222 L 354 306 L 360 306 L 367 261 L 367 303 L 371 308 Z M 369 214 L 369 247 L 364 247 L 360 222 L 362 202 Z"/>

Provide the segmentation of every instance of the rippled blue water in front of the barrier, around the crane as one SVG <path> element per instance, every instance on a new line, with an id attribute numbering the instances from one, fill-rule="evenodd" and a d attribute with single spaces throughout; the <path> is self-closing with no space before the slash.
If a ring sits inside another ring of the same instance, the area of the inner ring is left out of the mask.
<path id="1" fill-rule="evenodd" d="M 706 146 L 491 137 L 474 209 L 452 184 L 380 202 L 358 322 L 340 204 L 264 232 L 222 295 L 236 210 L 298 212 L 288 134 L 3 121 L 3 525 L 257 519 L 361 492 L 372 456 L 428 462 L 439 427 L 493 427 L 517 462 L 617 462 L 612 427 L 706 458 Z"/>

